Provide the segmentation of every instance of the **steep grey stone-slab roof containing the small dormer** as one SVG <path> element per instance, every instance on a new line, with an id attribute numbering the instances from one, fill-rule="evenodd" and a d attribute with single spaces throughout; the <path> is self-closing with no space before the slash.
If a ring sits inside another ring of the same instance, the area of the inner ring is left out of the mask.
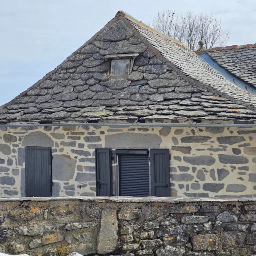
<path id="1" fill-rule="evenodd" d="M 130 75 L 109 76 L 113 54 L 139 54 Z M 253 121 L 256 96 L 124 12 L 0 108 L 1 123 L 186 118 Z"/>

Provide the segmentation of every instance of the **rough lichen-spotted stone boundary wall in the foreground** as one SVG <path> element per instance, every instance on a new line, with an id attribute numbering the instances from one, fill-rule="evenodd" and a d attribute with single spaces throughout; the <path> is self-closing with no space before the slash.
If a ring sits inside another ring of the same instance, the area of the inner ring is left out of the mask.
<path id="1" fill-rule="evenodd" d="M 0 252 L 40 256 L 250 256 L 256 199 L 0 200 Z"/>

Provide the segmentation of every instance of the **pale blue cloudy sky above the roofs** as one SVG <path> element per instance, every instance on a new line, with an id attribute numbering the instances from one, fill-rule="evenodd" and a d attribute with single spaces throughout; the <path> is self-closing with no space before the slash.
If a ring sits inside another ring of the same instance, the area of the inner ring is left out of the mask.
<path id="1" fill-rule="evenodd" d="M 256 43 L 256 0 L 0 0 L 0 106 L 36 83 L 119 11 L 148 24 L 158 11 L 212 13 L 228 45 Z"/>

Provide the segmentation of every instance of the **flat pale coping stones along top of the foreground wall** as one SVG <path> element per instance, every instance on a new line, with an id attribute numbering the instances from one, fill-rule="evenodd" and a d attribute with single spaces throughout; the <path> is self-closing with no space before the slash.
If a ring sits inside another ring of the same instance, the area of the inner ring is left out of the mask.
<path id="1" fill-rule="evenodd" d="M 211 198 L 211 197 L 89 197 L 89 196 L 67 196 L 67 197 L 21 197 L 21 198 L 0 198 L 0 202 L 13 201 L 55 201 L 55 200 L 81 200 L 84 202 L 97 203 L 143 203 L 143 202 L 159 202 L 178 204 L 180 202 L 256 202 L 256 198 L 239 197 L 239 198 Z"/>

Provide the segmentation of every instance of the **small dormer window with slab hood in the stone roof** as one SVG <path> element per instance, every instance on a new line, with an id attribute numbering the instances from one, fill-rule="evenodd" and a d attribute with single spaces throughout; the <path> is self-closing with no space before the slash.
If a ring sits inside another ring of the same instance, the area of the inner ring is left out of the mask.
<path id="1" fill-rule="evenodd" d="M 138 56 L 138 53 L 129 54 L 110 54 L 104 57 L 104 59 L 111 60 L 110 76 L 124 77 L 131 74 L 134 59 Z"/>

